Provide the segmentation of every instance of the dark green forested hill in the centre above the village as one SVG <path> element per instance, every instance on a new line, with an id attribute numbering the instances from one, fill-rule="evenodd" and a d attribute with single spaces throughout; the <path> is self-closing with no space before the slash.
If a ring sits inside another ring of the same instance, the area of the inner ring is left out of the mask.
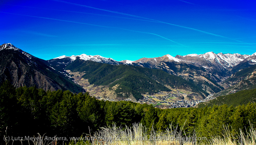
<path id="1" fill-rule="evenodd" d="M 85 72 L 83 78 L 88 79 L 90 84 L 109 86 L 109 88 L 117 86 L 115 93 L 119 97 L 133 95 L 136 99 L 140 99 L 141 93 L 169 91 L 170 89 L 165 85 L 186 89 L 200 95 L 208 95 L 193 82 L 159 69 L 131 65 L 109 65 L 81 59 L 76 59 L 65 69 L 72 72 Z"/>

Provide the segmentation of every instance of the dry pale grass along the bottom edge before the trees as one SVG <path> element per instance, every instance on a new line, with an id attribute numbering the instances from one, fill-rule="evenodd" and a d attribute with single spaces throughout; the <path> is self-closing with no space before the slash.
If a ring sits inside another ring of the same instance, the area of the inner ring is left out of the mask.
<path id="1" fill-rule="evenodd" d="M 247 132 L 232 132 L 223 127 L 224 137 L 212 136 L 206 138 L 195 131 L 185 133 L 171 126 L 165 131 L 148 130 L 141 124 L 133 124 L 132 127 L 121 128 L 116 125 L 102 127 L 94 135 L 73 138 L 68 145 L 256 145 L 256 132 L 252 128 Z M 188 134 L 188 135 L 186 135 Z M 39 135 L 39 134 L 38 134 Z M 41 140 L 33 141 L 34 145 L 57 145 L 64 144 L 62 141 L 44 141 L 44 136 L 38 136 Z M 6 142 L 12 144 L 12 142 Z M 21 142 L 22 144 L 22 142 Z"/>

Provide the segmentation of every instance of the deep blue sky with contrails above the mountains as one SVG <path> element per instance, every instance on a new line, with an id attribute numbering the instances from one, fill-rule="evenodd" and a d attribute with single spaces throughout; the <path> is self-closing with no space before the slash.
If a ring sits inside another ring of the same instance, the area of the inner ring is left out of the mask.
<path id="1" fill-rule="evenodd" d="M 253 0 L 3 0 L 0 43 L 41 59 L 256 52 Z"/>

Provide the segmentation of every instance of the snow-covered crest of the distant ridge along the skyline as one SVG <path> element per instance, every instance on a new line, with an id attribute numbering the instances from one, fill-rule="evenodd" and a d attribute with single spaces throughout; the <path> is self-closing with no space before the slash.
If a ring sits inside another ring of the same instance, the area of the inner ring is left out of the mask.
<path id="1" fill-rule="evenodd" d="M 11 44 L 8 44 L 11 45 Z M 70 58 L 70 61 L 74 61 L 76 59 L 82 59 L 82 60 L 91 60 L 95 62 L 100 62 L 100 63 L 107 63 L 107 64 L 113 64 L 113 65 L 118 65 L 118 64 L 130 64 L 132 65 L 133 63 L 148 63 L 150 62 L 151 64 L 158 64 L 160 62 L 184 62 L 184 63 L 194 63 L 197 65 L 201 65 L 204 67 L 211 68 L 211 66 L 217 66 L 218 68 L 229 68 L 229 67 L 234 67 L 235 65 L 239 64 L 242 62 L 244 59 L 252 59 L 251 57 L 256 56 L 256 52 L 253 53 L 252 55 L 241 55 L 238 53 L 234 54 L 223 54 L 223 53 L 218 53 L 215 54 L 214 52 L 206 52 L 204 54 L 187 54 L 185 56 L 180 56 L 177 55 L 176 57 L 173 57 L 169 54 L 164 55 L 162 57 L 154 57 L 154 58 L 141 58 L 135 61 L 131 60 L 122 60 L 122 61 L 116 61 L 112 58 L 106 58 L 102 57 L 100 55 L 86 55 L 86 54 L 81 54 L 81 55 L 72 55 L 70 57 L 68 56 L 60 56 L 56 57 L 54 59 L 62 59 L 62 58 Z M 254 60 L 254 59 L 253 59 Z"/>

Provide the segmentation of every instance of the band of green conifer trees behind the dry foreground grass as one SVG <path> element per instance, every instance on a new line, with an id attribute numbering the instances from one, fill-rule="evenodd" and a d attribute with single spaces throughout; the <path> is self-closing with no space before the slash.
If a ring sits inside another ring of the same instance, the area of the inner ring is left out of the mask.
<path id="1" fill-rule="evenodd" d="M 223 125 L 246 130 L 256 123 L 256 103 L 228 107 L 158 109 L 133 102 L 99 101 L 88 93 L 44 91 L 35 87 L 14 88 L 9 82 L 0 87 L 0 134 L 7 127 L 9 136 L 81 136 L 93 134 L 100 127 L 131 126 L 142 123 L 149 131 L 165 130 L 172 124 L 184 134 L 196 130 L 202 136 L 222 136 Z M 249 122 L 250 120 L 250 122 Z M 89 126 L 89 127 L 88 127 Z"/>

